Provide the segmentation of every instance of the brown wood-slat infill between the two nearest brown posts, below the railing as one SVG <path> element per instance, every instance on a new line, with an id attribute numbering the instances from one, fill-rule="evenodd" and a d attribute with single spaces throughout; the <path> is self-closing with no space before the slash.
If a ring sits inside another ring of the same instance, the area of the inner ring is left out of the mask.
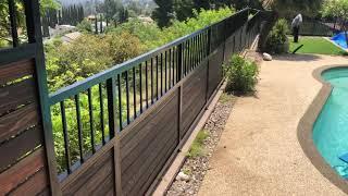
<path id="1" fill-rule="evenodd" d="M 148 181 L 152 174 L 153 169 L 151 168 L 153 166 L 163 166 L 167 160 L 166 150 L 169 148 L 174 149 L 178 144 L 178 95 L 177 91 L 174 93 L 174 97 L 171 97 L 164 106 L 153 111 L 156 115 L 150 114 L 135 127 L 134 131 L 138 134 L 121 148 L 123 157 L 122 189 L 125 195 L 129 194 L 130 191 L 139 191 L 141 185 L 146 183 L 145 181 Z M 129 148 L 133 149 L 128 150 Z M 138 194 L 141 195 L 141 193 Z"/>

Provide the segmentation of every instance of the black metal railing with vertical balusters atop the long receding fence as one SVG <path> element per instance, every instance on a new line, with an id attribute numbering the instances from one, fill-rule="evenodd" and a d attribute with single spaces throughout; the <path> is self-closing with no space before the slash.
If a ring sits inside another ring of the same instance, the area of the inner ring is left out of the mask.
<path id="1" fill-rule="evenodd" d="M 251 13 L 253 16 L 249 19 Z M 61 148 L 55 149 L 61 150 L 57 157 L 61 164 L 61 180 L 133 121 L 141 118 L 146 110 L 209 59 L 216 48 L 227 45 L 227 39 L 233 38 L 233 45 L 225 46 L 225 56 L 250 46 L 259 32 L 259 14 L 245 9 L 51 94 L 49 105 L 53 133 L 57 133 L 54 142 L 55 147 Z"/>

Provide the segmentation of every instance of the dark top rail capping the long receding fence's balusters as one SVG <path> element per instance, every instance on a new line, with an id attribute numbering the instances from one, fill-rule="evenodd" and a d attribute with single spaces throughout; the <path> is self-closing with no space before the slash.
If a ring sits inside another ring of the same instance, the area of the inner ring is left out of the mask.
<path id="1" fill-rule="evenodd" d="M 49 95 L 49 103 L 50 103 L 50 106 L 53 106 L 58 102 L 65 100 L 66 98 L 73 97 L 82 91 L 85 91 L 92 86 L 96 86 L 100 83 L 103 83 L 103 82 L 110 79 L 110 78 L 113 78 L 117 74 L 121 74 L 129 69 L 133 69 L 136 65 L 139 65 L 140 63 L 144 63 L 145 61 L 150 60 L 151 58 L 160 54 L 161 52 L 166 51 L 173 47 L 179 46 L 181 44 L 189 40 L 190 38 L 209 30 L 212 26 L 217 25 L 217 24 L 226 21 L 227 19 L 234 17 L 237 14 L 241 14 L 241 13 L 248 12 L 250 10 L 251 10 L 250 8 L 243 9 L 243 10 L 234 13 L 233 15 L 231 15 L 226 19 L 223 19 L 219 22 L 212 23 L 212 24 L 206 26 L 204 28 L 201 28 L 199 30 L 194 32 L 192 34 L 181 37 L 176 40 L 173 40 L 172 42 L 163 45 L 162 47 L 159 47 L 154 50 L 146 52 L 146 53 L 138 56 L 132 60 L 128 60 L 128 61 L 125 61 L 121 64 L 114 65 L 105 71 L 102 71 L 102 72 L 96 74 L 96 75 L 87 77 L 84 81 L 76 82 L 70 86 L 63 87 L 63 88 L 57 90 L 55 93 L 52 93 Z"/>

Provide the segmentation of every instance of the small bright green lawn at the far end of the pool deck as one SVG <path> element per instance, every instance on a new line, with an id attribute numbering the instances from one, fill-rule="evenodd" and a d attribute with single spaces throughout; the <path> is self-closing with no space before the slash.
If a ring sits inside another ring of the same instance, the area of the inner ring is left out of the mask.
<path id="1" fill-rule="evenodd" d="M 295 44 L 294 38 L 289 37 L 290 52 L 297 47 L 303 45 L 296 53 L 316 53 L 331 56 L 346 56 L 347 52 L 341 48 L 335 46 L 331 41 L 322 37 L 300 37 L 299 42 Z"/>

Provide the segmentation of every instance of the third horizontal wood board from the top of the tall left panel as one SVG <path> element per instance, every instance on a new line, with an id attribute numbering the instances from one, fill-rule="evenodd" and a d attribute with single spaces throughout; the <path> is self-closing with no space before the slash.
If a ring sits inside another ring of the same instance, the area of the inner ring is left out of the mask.
<path id="1" fill-rule="evenodd" d="M 39 111 L 36 103 L 25 106 L 0 118 L 0 144 L 20 132 L 39 124 Z"/>

